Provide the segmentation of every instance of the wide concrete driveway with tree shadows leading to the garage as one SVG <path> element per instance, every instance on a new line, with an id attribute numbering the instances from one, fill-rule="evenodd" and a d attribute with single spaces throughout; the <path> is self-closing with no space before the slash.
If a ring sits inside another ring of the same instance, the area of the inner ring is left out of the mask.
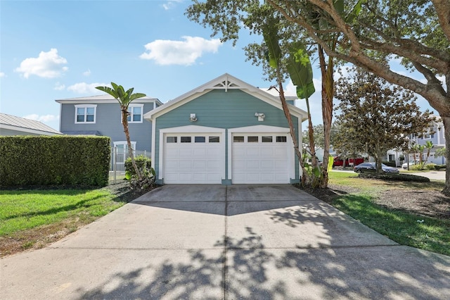
<path id="1" fill-rule="evenodd" d="M 166 185 L 0 261 L 1 299 L 448 299 L 450 257 L 290 185 Z"/>

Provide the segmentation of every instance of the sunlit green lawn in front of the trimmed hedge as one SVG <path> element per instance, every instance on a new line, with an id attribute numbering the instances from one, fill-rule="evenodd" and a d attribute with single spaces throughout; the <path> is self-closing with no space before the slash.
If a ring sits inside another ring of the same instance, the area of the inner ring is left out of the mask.
<path id="1" fill-rule="evenodd" d="M 2 190 L 0 237 L 55 223 L 73 231 L 123 204 L 108 189 Z"/>

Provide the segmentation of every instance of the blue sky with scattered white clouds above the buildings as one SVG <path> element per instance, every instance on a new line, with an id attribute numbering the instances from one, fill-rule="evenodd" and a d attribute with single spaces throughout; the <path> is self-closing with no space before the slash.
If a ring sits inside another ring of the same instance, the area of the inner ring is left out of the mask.
<path id="1" fill-rule="evenodd" d="M 236 46 L 221 44 L 210 28 L 186 18 L 189 4 L 0 0 L 0 111 L 59 130 L 56 99 L 101 94 L 94 87 L 111 81 L 163 103 L 224 73 L 256 87 L 274 84 L 245 61 L 243 46 L 261 37 L 243 30 Z M 320 124 L 317 68 L 314 77 L 310 105 Z M 295 93 L 292 84 L 287 89 Z M 419 105 L 428 108 L 424 100 Z"/>

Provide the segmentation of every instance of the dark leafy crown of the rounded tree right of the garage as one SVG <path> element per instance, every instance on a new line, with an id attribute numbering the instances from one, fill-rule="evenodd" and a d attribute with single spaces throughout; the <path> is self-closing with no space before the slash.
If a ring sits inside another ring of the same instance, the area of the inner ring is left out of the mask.
<path id="1" fill-rule="evenodd" d="M 376 162 L 390 149 L 406 149 L 409 135 L 423 136 L 435 121 L 430 111 L 420 112 L 413 92 L 361 68 L 337 80 L 335 97 L 344 146 L 366 152 Z"/>

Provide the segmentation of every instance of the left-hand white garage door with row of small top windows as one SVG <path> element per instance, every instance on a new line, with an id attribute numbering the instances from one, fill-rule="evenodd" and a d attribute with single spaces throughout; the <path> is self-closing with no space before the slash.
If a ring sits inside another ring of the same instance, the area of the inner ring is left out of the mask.
<path id="1" fill-rule="evenodd" d="M 164 183 L 221 184 L 225 168 L 221 134 L 166 134 Z"/>

